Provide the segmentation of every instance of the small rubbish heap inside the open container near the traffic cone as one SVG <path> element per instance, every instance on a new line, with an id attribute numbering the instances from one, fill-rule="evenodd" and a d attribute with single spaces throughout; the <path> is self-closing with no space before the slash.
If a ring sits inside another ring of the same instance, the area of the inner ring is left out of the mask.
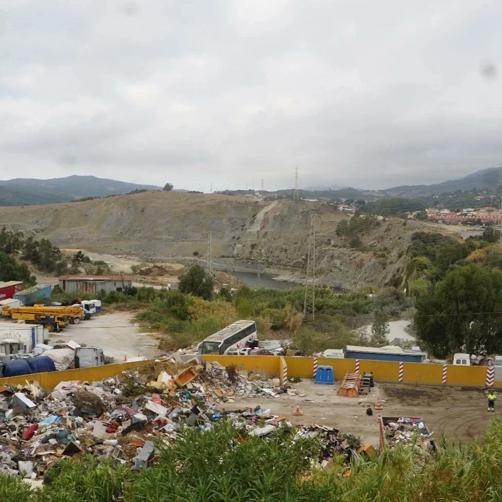
<path id="1" fill-rule="evenodd" d="M 435 451 L 434 433 L 429 433 L 422 418 L 387 418 L 384 420 L 385 437 L 391 447 L 399 443 L 411 443 L 416 437 L 416 446 L 424 451 Z"/>

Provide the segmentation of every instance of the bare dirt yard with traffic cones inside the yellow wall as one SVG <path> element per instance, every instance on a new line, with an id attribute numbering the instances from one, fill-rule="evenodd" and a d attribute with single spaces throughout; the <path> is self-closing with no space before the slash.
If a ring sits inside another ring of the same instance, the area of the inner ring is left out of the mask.
<path id="1" fill-rule="evenodd" d="M 364 436 L 366 441 L 378 444 L 378 411 L 374 410 L 376 398 L 384 401 L 384 417 L 421 417 L 436 439 L 444 432 L 449 440 L 472 440 L 482 434 L 490 420 L 502 416 L 500 409 L 488 413 L 486 393 L 480 389 L 460 387 L 415 387 L 411 385 L 378 384 L 369 396 L 347 398 L 337 396 L 339 382 L 333 385 L 316 385 L 312 380 L 291 384 L 304 397 L 280 395 L 278 398 L 236 397 L 225 403 L 227 409 L 243 409 L 260 405 L 275 415 L 286 417 L 292 423 L 317 423 L 329 425 L 342 432 Z M 293 416 L 299 405 L 302 417 Z M 373 416 L 366 409 L 373 409 Z"/>

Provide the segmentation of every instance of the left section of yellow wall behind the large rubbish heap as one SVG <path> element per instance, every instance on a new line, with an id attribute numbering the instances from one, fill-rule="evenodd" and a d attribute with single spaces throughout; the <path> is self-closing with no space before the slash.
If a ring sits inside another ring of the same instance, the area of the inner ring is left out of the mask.
<path id="1" fill-rule="evenodd" d="M 134 363 L 107 364 L 95 368 L 67 369 L 65 371 L 52 371 L 49 373 L 35 373 L 34 375 L 11 376 L 10 378 L 0 378 L 0 387 L 3 385 L 25 384 L 26 381 L 36 380 L 44 389 L 52 390 L 59 382 L 75 380 L 79 382 L 90 382 L 103 380 L 120 374 L 129 368 L 137 368 L 145 364 L 145 361 Z"/>

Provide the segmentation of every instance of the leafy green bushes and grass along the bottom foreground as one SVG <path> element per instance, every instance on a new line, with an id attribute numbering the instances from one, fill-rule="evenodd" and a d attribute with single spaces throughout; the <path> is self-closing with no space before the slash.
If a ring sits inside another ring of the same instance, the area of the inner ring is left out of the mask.
<path id="1" fill-rule="evenodd" d="M 502 423 L 483 441 L 449 444 L 425 454 L 400 445 L 350 466 L 312 471 L 315 440 L 292 440 L 288 427 L 267 439 L 244 437 L 223 422 L 211 431 L 184 429 L 172 445 L 159 443 L 151 467 L 130 471 L 86 455 L 60 460 L 51 483 L 30 491 L 21 479 L 0 477 L 2 502 L 497 502 L 502 493 Z"/>

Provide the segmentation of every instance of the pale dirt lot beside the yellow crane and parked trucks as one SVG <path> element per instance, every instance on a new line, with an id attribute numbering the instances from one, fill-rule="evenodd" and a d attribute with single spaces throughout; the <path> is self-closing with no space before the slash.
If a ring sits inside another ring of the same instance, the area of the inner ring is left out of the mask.
<path id="1" fill-rule="evenodd" d="M 52 333 L 50 342 L 74 340 L 89 347 L 101 347 L 105 355 L 115 358 L 116 363 L 122 363 L 124 356 L 157 356 L 160 353 L 158 342 L 149 333 L 140 333 L 132 324 L 132 318 L 133 314 L 126 312 L 100 314 L 79 324 L 69 325 L 59 333 Z"/>

